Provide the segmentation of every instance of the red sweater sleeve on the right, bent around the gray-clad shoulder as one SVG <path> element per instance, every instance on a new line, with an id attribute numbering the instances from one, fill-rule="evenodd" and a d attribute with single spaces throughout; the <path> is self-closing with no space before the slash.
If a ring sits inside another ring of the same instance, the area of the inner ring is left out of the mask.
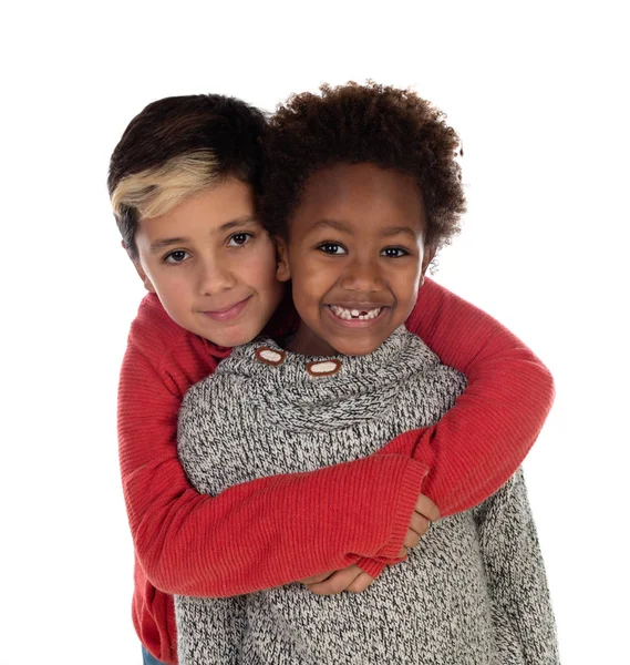
<path id="1" fill-rule="evenodd" d="M 519 467 L 554 401 L 549 370 L 493 317 L 432 280 L 406 321 L 468 387 L 440 422 L 405 432 L 382 452 L 431 468 L 423 493 L 442 516 L 473 508 Z"/>

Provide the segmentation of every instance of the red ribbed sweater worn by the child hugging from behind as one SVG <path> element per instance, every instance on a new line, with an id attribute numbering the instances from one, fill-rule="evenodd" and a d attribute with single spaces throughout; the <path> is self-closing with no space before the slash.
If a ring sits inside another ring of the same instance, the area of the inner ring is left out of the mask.
<path id="1" fill-rule="evenodd" d="M 251 593 L 352 563 L 375 576 L 396 561 L 421 491 L 445 516 L 476 505 L 518 468 L 554 399 L 545 366 L 430 279 L 406 325 L 468 378 L 437 424 L 370 458 L 208 497 L 177 459 L 177 413 L 229 349 L 177 326 L 156 296 L 144 298 L 121 372 L 118 439 L 136 555 L 134 625 L 157 658 L 177 662 L 171 594 Z"/>

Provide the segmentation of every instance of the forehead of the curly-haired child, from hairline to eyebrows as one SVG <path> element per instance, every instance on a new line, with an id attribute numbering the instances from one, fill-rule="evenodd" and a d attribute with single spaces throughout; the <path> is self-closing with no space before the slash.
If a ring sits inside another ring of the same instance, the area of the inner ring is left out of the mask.
<path id="1" fill-rule="evenodd" d="M 404 221 L 424 227 L 420 187 L 411 175 L 374 164 L 337 164 L 314 173 L 295 218 Z"/>

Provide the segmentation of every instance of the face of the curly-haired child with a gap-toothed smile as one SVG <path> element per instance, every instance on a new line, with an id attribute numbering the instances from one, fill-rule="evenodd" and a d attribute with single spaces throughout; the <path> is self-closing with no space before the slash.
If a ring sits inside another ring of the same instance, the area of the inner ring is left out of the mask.
<path id="1" fill-rule="evenodd" d="M 280 241 L 280 279 L 292 280 L 302 320 L 291 349 L 370 354 L 411 314 L 433 258 L 415 181 L 372 164 L 313 174 Z"/>

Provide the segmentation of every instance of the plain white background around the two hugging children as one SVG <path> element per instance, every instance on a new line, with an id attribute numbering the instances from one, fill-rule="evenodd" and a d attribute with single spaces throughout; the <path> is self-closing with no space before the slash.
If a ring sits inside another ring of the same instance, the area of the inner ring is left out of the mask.
<path id="1" fill-rule="evenodd" d="M 16 7 L 0 39 L 0 663 L 141 663 L 115 397 L 143 291 L 105 187 L 127 122 L 166 95 L 272 110 L 366 78 L 414 86 L 463 137 L 469 213 L 435 278 L 554 372 L 526 470 L 562 659 L 629 663 L 622 3 Z"/>

